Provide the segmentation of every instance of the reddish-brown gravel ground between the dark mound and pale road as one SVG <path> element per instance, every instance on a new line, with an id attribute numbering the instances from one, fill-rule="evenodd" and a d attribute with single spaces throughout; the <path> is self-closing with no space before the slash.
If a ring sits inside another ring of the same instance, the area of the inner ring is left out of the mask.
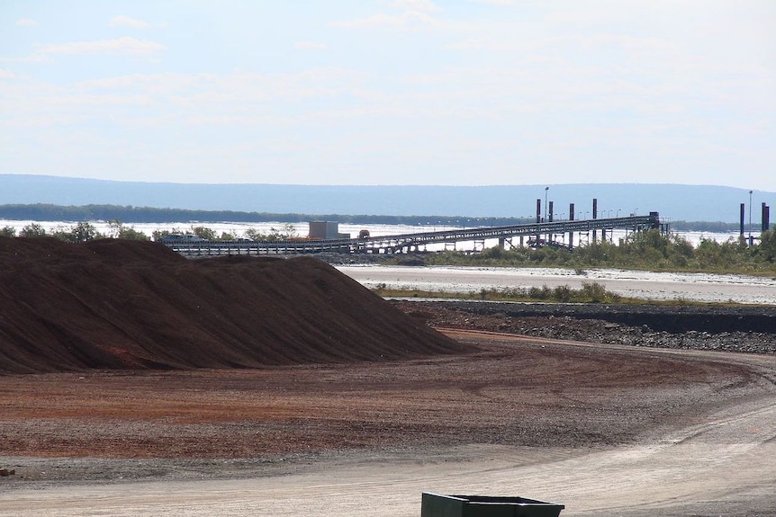
<path id="1" fill-rule="evenodd" d="M 471 443 L 587 450 L 632 443 L 739 395 L 709 386 L 753 382 L 721 361 L 645 348 L 446 334 L 477 352 L 263 370 L 6 376 L 0 466 L 15 468 L 16 482 L 46 483 L 193 470 L 277 474 L 320 455 L 425 456 Z"/>

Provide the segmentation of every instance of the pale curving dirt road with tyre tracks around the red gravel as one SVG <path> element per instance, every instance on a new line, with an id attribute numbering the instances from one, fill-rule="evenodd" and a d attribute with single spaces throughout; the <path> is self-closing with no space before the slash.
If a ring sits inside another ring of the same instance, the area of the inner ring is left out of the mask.
<path id="1" fill-rule="evenodd" d="M 483 339 L 447 331 L 457 339 Z M 332 459 L 284 476 L 202 481 L 160 480 L 104 486 L 50 486 L 0 493 L 9 513 L 27 517 L 85 514 L 416 516 L 420 492 L 522 495 L 566 505 L 562 515 L 774 515 L 776 386 L 774 358 L 724 352 L 645 350 L 485 334 L 530 347 L 671 357 L 740 373 L 734 397 L 670 432 L 613 449 L 553 449 L 471 444 L 396 451 L 389 457 Z M 508 344 L 508 346 L 511 346 Z M 750 379 L 742 385 L 741 379 Z M 717 388 L 726 385 L 717 381 Z M 474 386 L 471 385 L 470 386 Z M 479 388 L 487 391 L 487 386 Z M 490 394 L 484 394 L 489 396 Z M 479 396 L 478 396 L 479 397 Z"/>

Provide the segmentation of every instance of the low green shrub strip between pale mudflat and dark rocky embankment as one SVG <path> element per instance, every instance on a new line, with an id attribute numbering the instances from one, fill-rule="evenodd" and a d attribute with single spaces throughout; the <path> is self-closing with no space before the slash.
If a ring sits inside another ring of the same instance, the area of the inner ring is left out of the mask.
<path id="1" fill-rule="evenodd" d="M 582 282 L 581 289 L 572 289 L 562 285 L 550 289 L 547 286 L 531 288 L 483 289 L 465 293 L 450 293 L 445 291 L 389 289 L 385 284 L 379 284 L 373 292 L 387 298 L 456 298 L 480 299 L 488 301 L 544 301 L 558 303 L 622 303 L 636 300 L 623 299 L 618 294 L 609 292 L 598 282 Z"/>

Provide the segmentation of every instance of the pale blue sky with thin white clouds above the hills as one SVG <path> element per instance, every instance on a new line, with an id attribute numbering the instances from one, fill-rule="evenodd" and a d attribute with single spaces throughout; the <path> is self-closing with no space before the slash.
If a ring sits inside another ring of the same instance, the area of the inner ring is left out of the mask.
<path id="1" fill-rule="evenodd" d="M 0 171 L 776 192 L 776 2 L 0 0 Z"/>

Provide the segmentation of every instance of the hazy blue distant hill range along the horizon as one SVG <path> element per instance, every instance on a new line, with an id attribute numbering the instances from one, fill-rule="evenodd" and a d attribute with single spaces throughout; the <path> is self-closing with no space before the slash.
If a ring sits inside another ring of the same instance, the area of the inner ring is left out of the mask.
<path id="1" fill-rule="evenodd" d="M 549 187 L 549 190 L 545 190 Z M 546 197 L 545 197 L 546 194 Z M 739 220 L 740 203 L 749 219 L 749 190 L 732 187 L 643 183 L 557 185 L 343 186 L 275 184 L 140 183 L 58 176 L 0 174 L 0 205 L 47 203 L 63 206 L 121 205 L 267 213 L 364 214 L 387 216 L 536 217 L 537 200 L 554 202 L 555 218 L 599 217 L 660 212 L 684 221 Z M 752 222 L 761 220 L 761 203 L 773 206 L 776 192 L 753 193 Z M 772 218 L 771 218 L 772 219 Z"/>

